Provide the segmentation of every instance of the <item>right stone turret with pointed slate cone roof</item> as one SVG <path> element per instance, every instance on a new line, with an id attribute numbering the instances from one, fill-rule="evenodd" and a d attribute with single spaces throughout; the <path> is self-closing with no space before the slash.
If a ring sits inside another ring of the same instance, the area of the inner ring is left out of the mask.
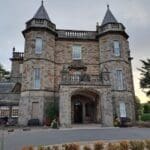
<path id="1" fill-rule="evenodd" d="M 97 37 L 100 50 L 100 71 L 110 72 L 114 117 L 130 118 L 134 116 L 134 112 L 127 111 L 127 108 L 134 107 L 134 91 L 129 58 L 129 36 L 124 25 L 119 23 L 112 14 L 109 5 L 102 24 L 97 25 Z"/>

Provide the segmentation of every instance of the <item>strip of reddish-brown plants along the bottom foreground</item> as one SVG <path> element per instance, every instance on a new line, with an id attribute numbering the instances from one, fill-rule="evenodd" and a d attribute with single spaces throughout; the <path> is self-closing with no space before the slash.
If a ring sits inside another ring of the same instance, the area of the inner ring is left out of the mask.
<path id="1" fill-rule="evenodd" d="M 38 147 L 23 147 L 22 150 L 150 150 L 150 140 L 96 141 L 59 144 Z"/>

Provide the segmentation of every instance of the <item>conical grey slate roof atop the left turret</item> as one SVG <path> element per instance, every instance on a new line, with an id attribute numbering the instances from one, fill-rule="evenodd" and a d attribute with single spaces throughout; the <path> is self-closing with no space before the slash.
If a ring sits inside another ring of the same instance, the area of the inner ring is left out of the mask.
<path id="1" fill-rule="evenodd" d="M 45 19 L 45 20 L 50 21 L 48 13 L 43 5 L 43 1 L 42 1 L 40 8 L 36 12 L 36 14 L 33 16 L 33 19 Z"/>

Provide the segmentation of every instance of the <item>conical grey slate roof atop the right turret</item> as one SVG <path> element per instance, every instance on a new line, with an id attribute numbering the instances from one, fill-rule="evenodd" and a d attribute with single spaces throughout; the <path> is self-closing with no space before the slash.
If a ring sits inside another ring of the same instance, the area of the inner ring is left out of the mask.
<path id="1" fill-rule="evenodd" d="M 105 25 L 107 23 L 118 23 L 111 10 L 109 9 L 109 5 L 107 5 L 107 12 L 101 25 Z"/>

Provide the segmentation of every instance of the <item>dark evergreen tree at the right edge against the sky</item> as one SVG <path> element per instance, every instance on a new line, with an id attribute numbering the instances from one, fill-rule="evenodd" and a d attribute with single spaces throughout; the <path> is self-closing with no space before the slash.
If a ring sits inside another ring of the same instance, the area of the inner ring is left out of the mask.
<path id="1" fill-rule="evenodd" d="M 146 93 L 147 96 L 150 96 L 150 59 L 146 61 L 141 60 L 142 68 L 138 69 L 141 71 L 140 87 Z"/>

